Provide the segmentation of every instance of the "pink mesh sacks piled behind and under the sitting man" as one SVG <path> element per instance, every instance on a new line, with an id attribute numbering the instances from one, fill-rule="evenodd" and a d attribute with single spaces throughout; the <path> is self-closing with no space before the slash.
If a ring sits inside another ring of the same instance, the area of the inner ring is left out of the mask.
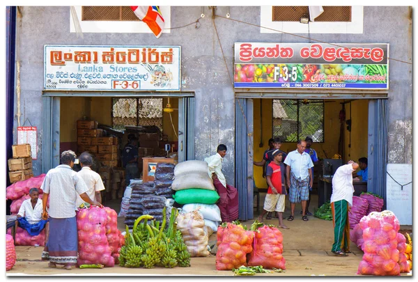
<path id="1" fill-rule="evenodd" d="M 29 178 L 23 181 L 17 181 L 10 185 L 6 189 L 6 198 L 8 200 L 13 200 L 10 204 L 10 213 L 17 214 L 20 210 L 20 206 L 23 201 L 31 198 L 29 196 L 29 190 L 31 188 L 38 188 L 39 198 L 42 199 L 42 182 L 46 174 L 41 174 L 39 176 Z M 47 207 L 49 207 L 49 198 Z M 7 233 L 10 235 L 12 233 L 11 228 L 8 229 Z M 26 231 L 26 229 L 18 227 L 15 235 L 15 245 L 16 246 L 45 246 L 45 229 L 43 229 L 39 235 L 31 236 Z"/>

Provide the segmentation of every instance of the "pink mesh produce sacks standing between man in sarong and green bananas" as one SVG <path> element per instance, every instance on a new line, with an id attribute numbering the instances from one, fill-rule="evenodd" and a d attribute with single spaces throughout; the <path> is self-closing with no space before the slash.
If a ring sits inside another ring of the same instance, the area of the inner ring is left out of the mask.
<path id="1" fill-rule="evenodd" d="M 77 211 L 79 256 L 77 265 L 100 264 L 114 267 L 124 238 L 117 228 L 118 215 L 109 207 Z"/>

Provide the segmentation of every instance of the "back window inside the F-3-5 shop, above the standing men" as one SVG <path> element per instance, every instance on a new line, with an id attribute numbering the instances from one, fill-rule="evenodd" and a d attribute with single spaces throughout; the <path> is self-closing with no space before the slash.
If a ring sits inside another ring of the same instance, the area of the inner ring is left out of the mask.
<path id="1" fill-rule="evenodd" d="M 273 100 L 273 136 L 283 142 L 297 142 L 310 136 L 324 142 L 323 100 Z"/>

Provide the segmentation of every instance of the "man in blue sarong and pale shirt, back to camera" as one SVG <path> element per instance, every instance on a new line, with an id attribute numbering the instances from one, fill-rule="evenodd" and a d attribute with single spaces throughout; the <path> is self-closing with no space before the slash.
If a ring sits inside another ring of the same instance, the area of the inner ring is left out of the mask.
<path id="1" fill-rule="evenodd" d="M 64 151 L 61 154 L 61 164 L 48 171 L 40 187 L 43 191 L 42 219 L 49 217 L 49 237 L 42 252 L 42 260 L 49 260 L 49 267 L 64 265 L 68 270 L 77 263 L 77 194 L 86 203 L 102 207 L 88 197 L 86 183 L 72 170 L 76 157 L 72 150 Z M 49 197 L 51 199 L 47 210 Z"/>

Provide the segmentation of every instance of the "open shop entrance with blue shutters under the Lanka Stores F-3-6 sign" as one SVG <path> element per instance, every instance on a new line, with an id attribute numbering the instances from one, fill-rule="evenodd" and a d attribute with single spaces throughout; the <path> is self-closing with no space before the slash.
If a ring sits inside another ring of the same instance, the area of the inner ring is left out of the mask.
<path id="1" fill-rule="evenodd" d="M 64 150 L 77 155 L 91 152 L 97 170 L 109 166 L 123 171 L 121 150 L 128 134 L 139 139 L 140 175 L 142 157 L 169 155 L 178 162 L 194 159 L 193 93 L 44 93 L 42 99 L 42 173 L 59 164 Z M 94 127 L 83 131 L 77 120 L 91 120 Z M 101 136 L 106 138 L 99 140 Z M 100 146 L 112 146 L 112 152 L 100 152 Z M 105 187 L 110 187 L 107 190 L 114 191 L 120 183 L 116 181 L 110 177 L 104 180 Z M 124 188 L 118 187 L 118 192 L 107 198 L 120 198 Z"/>

